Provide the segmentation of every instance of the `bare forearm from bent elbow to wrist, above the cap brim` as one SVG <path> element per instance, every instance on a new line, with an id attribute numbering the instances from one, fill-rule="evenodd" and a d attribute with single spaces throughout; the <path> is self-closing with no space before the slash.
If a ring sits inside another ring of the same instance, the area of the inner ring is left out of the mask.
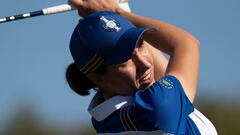
<path id="1" fill-rule="evenodd" d="M 198 42 L 191 34 L 177 28 L 168 23 L 139 16 L 124 10 L 117 10 L 117 13 L 127 18 L 137 27 L 151 27 L 156 31 L 148 31 L 144 34 L 144 38 L 154 47 L 171 54 L 179 45 L 186 42 Z"/>

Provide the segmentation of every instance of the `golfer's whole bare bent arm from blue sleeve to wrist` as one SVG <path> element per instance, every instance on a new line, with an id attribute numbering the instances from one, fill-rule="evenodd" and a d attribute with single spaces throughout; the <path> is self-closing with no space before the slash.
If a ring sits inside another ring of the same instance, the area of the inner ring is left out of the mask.
<path id="1" fill-rule="evenodd" d="M 155 48 L 170 55 L 166 75 L 179 79 L 191 102 L 194 101 L 199 72 L 199 42 L 191 34 L 168 23 L 131 14 L 118 9 L 117 13 L 126 17 L 138 27 L 153 27 L 143 38 Z"/>

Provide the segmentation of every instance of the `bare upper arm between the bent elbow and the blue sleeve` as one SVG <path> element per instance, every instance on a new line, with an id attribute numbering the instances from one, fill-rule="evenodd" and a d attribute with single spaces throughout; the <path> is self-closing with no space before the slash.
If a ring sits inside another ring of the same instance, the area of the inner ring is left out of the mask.
<path id="1" fill-rule="evenodd" d="M 166 70 L 166 74 L 174 75 L 179 79 L 191 102 L 194 101 L 198 83 L 199 46 L 196 39 L 190 39 L 184 45 L 176 47 Z"/>

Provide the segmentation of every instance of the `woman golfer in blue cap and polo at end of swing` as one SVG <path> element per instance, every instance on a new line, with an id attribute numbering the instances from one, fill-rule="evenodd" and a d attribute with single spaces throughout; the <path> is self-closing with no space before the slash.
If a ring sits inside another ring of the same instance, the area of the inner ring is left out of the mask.
<path id="1" fill-rule="evenodd" d="M 85 18 L 71 37 L 74 63 L 66 77 L 80 95 L 92 88 L 97 91 L 88 111 L 98 134 L 217 134 L 192 104 L 199 66 L 196 38 L 170 24 L 126 12 L 114 0 L 70 3 Z M 166 70 L 156 49 L 170 56 Z"/>

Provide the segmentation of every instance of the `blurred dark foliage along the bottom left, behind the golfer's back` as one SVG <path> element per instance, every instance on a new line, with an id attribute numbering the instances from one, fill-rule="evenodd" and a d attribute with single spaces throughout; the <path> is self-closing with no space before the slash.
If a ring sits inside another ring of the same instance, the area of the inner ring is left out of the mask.
<path id="1" fill-rule="evenodd" d="M 60 125 L 44 123 L 29 105 L 22 105 L 14 112 L 7 127 L 0 135 L 96 135 L 91 127 L 70 129 Z"/>

